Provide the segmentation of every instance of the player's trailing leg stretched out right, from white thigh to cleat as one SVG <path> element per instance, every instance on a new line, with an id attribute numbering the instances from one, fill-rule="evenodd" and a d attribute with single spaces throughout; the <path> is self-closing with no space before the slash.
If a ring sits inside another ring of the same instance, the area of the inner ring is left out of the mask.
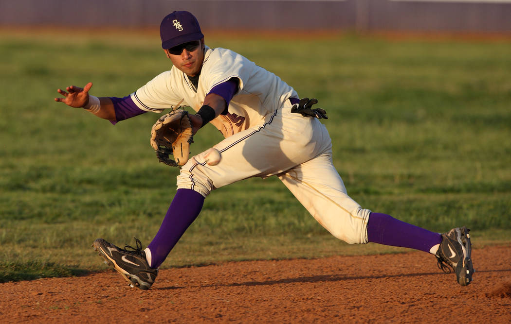
<path id="1" fill-rule="evenodd" d="M 312 216 L 335 237 L 347 243 L 374 242 L 414 248 L 435 255 L 439 267 L 446 263 L 465 286 L 474 272 L 470 235 L 456 228 L 440 235 L 387 214 L 363 209 L 346 193 L 330 152 L 279 175 Z"/>

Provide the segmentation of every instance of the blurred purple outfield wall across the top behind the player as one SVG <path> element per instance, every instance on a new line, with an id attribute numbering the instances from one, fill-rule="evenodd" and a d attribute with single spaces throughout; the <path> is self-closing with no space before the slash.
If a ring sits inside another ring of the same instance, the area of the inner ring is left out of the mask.
<path id="1" fill-rule="evenodd" d="M 0 25 L 146 28 L 173 10 L 203 29 L 511 32 L 509 0 L 2 0 Z"/>

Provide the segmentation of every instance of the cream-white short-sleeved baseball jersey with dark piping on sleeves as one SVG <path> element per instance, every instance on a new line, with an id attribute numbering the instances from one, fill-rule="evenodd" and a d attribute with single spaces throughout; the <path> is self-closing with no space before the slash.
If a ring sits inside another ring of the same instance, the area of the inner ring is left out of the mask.
<path id="1" fill-rule="evenodd" d="M 206 47 L 197 89 L 186 74 L 172 67 L 131 94 L 131 98 L 145 111 L 161 112 L 179 106 L 190 106 L 198 111 L 206 94 L 231 78 L 239 80 L 239 90 L 229 103 L 228 114 L 211 121 L 224 137 L 261 123 L 286 99 L 298 97 L 293 88 L 274 73 L 243 56 L 225 48 Z"/>

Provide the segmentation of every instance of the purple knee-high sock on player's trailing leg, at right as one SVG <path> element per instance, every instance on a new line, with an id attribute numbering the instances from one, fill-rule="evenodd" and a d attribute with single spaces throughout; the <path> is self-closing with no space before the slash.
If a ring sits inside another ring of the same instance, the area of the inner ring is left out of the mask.
<path id="1" fill-rule="evenodd" d="M 414 248 L 424 252 L 440 244 L 442 235 L 410 225 L 387 214 L 371 213 L 367 222 L 369 242 Z"/>

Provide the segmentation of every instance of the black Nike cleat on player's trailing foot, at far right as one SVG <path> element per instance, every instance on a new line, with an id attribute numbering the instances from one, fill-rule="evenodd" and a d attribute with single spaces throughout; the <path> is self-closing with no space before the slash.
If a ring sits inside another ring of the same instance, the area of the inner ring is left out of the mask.
<path id="1" fill-rule="evenodd" d="M 446 273 L 450 273 L 452 268 L 461 286 L 470 284 L 472 274 L 475 272 L 469 231 L 463 226 L 442 234 L 442 242 L 435 254 L 438 259 L 438 268 Z"/>

